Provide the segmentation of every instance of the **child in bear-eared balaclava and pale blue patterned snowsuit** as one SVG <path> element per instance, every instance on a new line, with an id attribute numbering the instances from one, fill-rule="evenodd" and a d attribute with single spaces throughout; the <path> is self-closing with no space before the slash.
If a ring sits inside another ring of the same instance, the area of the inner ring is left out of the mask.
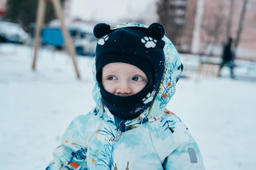
<path id="1" fill-rule="evenodd" d="M 75 118 L 46 170 L 203 170 L 195 140 L 165 107 L 183 69 L 160 23 L 97 24 L 96 107 Z"/>

